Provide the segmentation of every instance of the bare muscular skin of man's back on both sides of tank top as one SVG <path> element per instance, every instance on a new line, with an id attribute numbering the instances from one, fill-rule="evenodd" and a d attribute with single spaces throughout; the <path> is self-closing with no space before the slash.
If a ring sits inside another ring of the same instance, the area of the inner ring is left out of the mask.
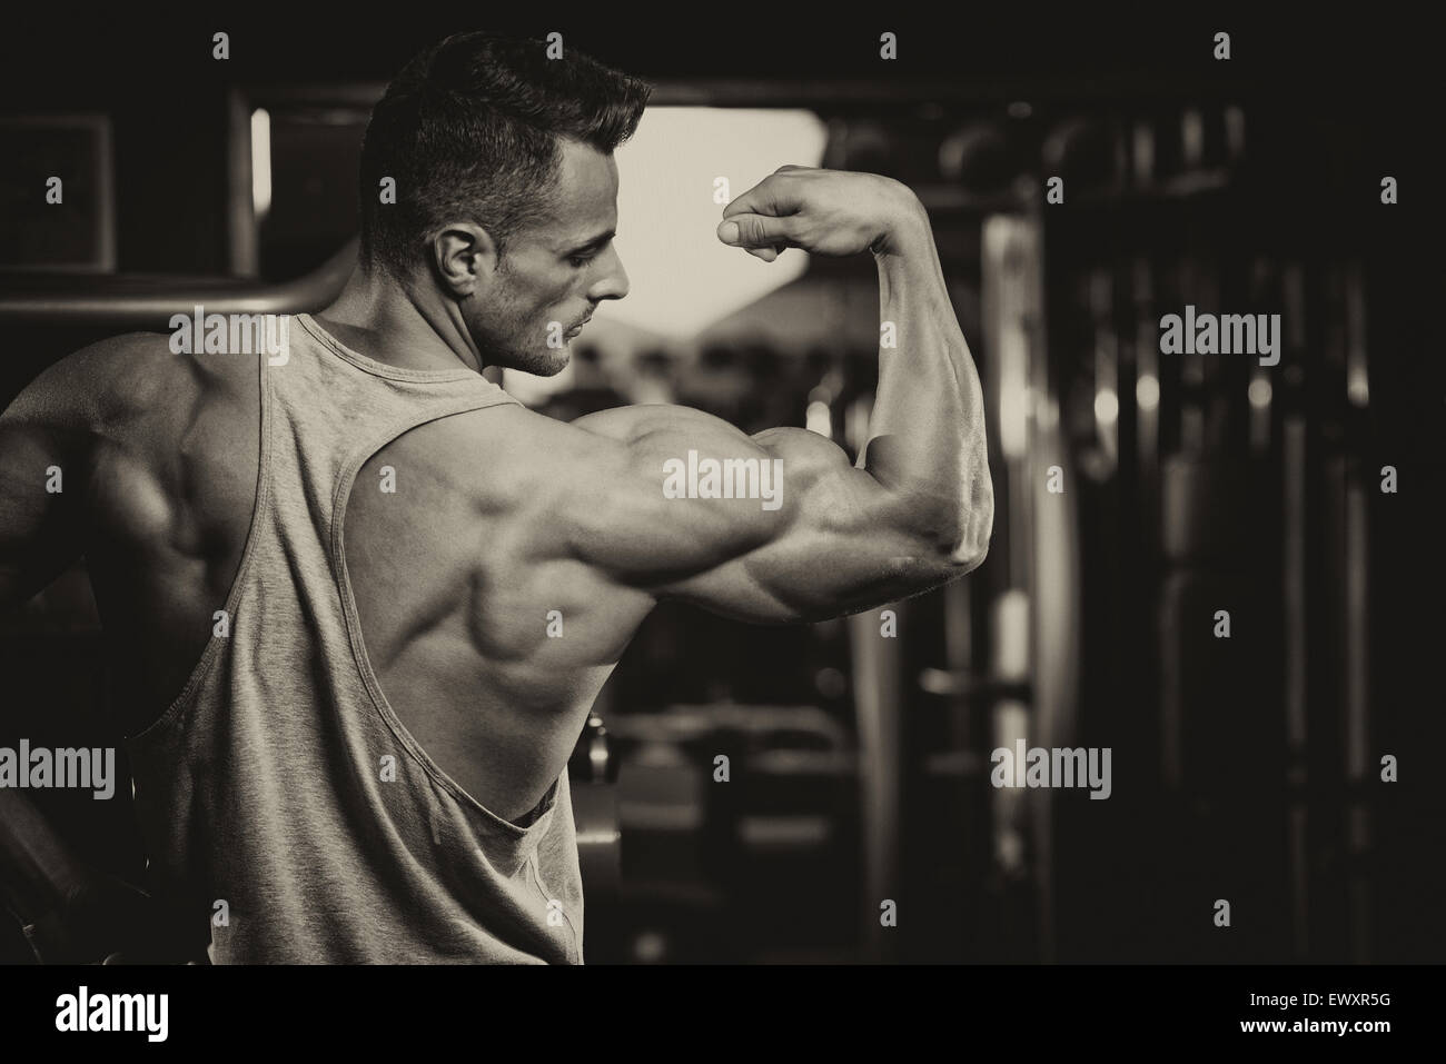
<path id="1" fill-rule="evenodd" d="M 130 734 L 181 692 L 236 580 L 256 505 L 257 357 L 178 356 L 133 334 L 67 361 L 97 409 L 85 552 Z M 503 406 L 402 434 L 362 466 L 344 519 L 383 692 L 505 817 L 557 778 L 652 604 L 551 557 L 536 421 Z"/>

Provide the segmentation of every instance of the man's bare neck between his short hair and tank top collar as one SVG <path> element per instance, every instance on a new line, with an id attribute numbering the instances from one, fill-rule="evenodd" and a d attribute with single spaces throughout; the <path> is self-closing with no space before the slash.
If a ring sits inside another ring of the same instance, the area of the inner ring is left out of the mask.
<path id="1" fill-rule="evenodd" d="M 341 295 L 312 315 L 347 347 L 376 361 L 414 370 L 486 367 L 457 304 L 408 291 L 382 270 L 357 265 Z"/>

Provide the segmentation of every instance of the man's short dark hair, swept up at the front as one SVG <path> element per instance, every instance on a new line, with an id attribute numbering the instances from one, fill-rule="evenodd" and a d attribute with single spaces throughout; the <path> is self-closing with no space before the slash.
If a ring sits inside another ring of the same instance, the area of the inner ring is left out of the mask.
<path id="1" fill-rule="evenodd" d="M 398 276 L 448 218 L 506 244 L 547 202 L 558 137 L 613 152 L 651 87 L 568 46 L 458 33 L 416 55 L 372 111 L 362 145 L 362 265 Z M 396 202 L 380 202 L 382 178 Z"/>

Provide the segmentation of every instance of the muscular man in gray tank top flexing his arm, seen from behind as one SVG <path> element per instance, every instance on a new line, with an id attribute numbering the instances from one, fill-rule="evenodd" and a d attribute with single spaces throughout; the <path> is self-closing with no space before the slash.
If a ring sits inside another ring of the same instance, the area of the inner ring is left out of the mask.
<path id="1" fill-rule="evenodd" d="M 677 406 L 562 424 L 482 376 L 558 373 L 557 337 L 628 295 L 613 149 L 645 100 L 577 52 L 451 38 L 377 104 L 359 269 L 283 359 L 119 337 L 0 421 L 0 601 L 85 554 L 147 889 L 192 958 L 581 961 L 567 759 L 654 604 L 813 622 L 983 559 L 979 380 L 897 181 L 784 166 L 717 228 L 873 254 L 898 341 L 856 464 Z M 690 452 L 781 470 L 778 505 L 665 492 Z M 9 823 L 16 863 L 80 875 Z"/>

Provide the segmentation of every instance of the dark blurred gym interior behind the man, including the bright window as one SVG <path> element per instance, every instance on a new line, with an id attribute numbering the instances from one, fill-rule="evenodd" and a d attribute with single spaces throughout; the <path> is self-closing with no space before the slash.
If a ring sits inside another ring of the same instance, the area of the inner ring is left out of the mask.
<path id="1" fill-rule="evenodd" d="M 324 305 L 369 108 L 461 27 L 237 25 L 224 62 L 200 22 L 17 30 L 0 398 L 165 331 L 162 305 Z M 655 84 L 617 153 L 633 291 L 564 374 L 500 383 L 856 455 L 873 265 L 729 257 L 713 227 L 784 163 L 886 173 L 928 210 L 996 492 L 988 561 L 938 591 L 798 627 L 649 617 L 571 765 L 589 963 L 1439 960 L 1442 288 L 1401 253 L 1436 134 L 1245 35 L 1222 62 L 1205 27 L 1190 52 L 904 26 L 895 65 L 843 19 L 746 48 L 557 29 Z M 64 223 L 27 207 L 49 173 Z M 1167 350 L 1187 308 L 1249 315 L 1258 350 Z M 100 640 L 84 564 L 7 620 L 0 745 L 98 745 Z M 1108 782 L 1031 786 L 1032 747 L 1108 752 Z M 140 878 L 124 795 L 36 801 Z M 33 960 L 9 924 L 0 960 Z"/>

